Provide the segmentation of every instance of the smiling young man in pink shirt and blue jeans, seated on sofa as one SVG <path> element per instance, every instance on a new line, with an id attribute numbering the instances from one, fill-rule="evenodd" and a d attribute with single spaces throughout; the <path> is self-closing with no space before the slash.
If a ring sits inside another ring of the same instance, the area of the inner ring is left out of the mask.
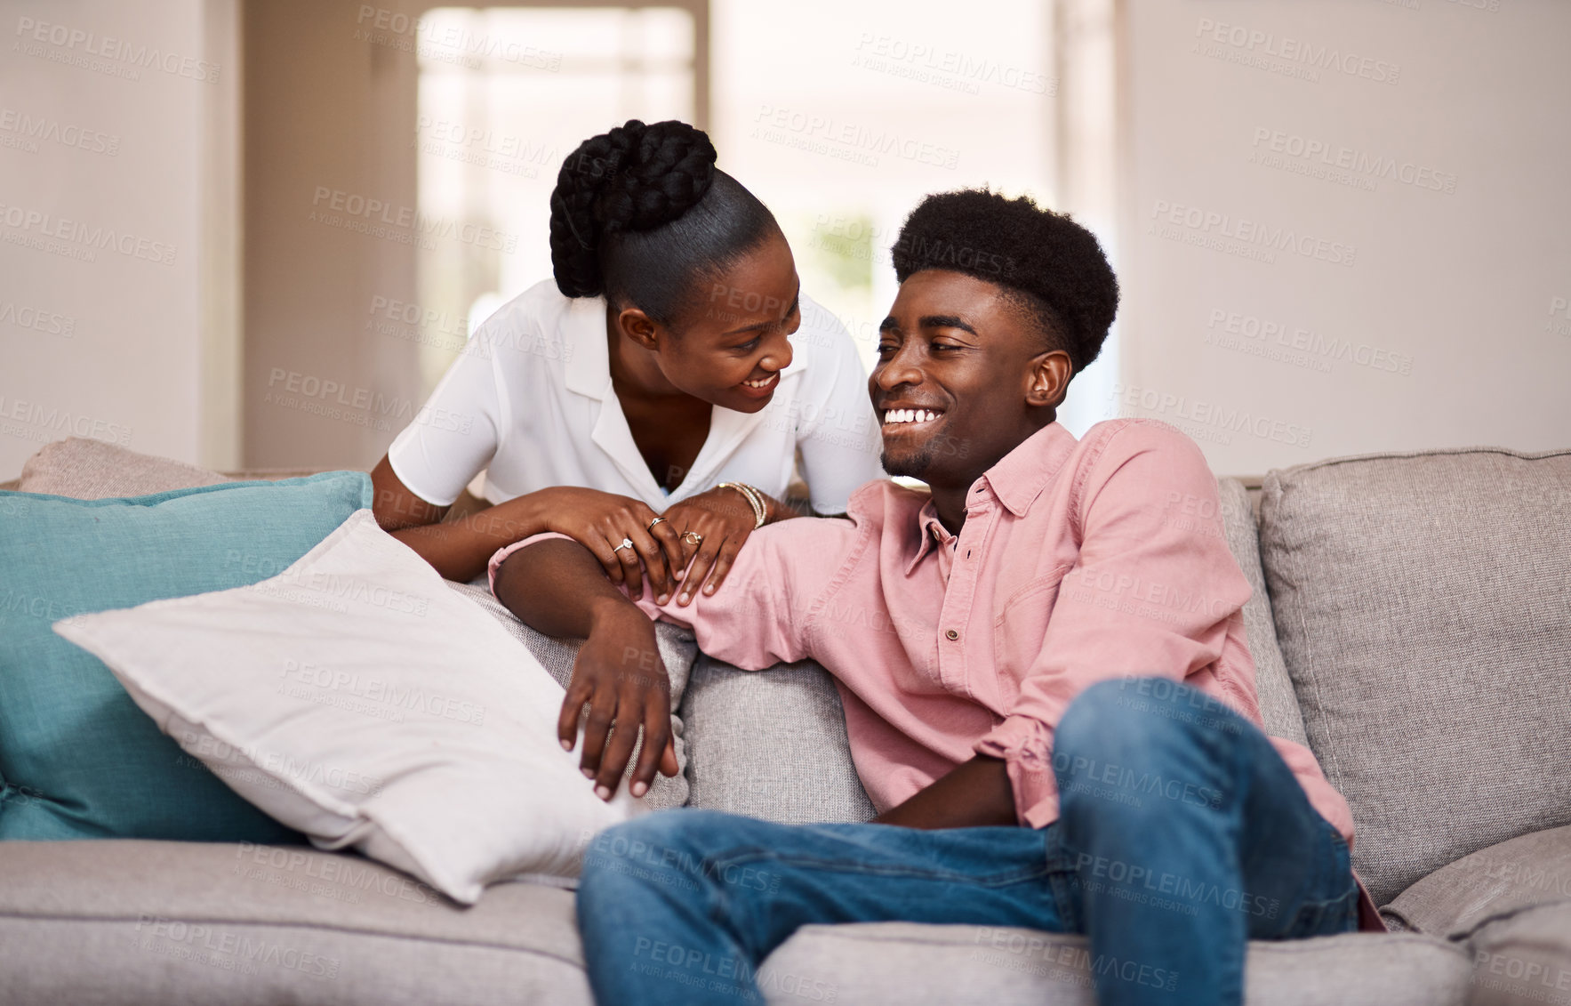
<path id="1" fill-rule="evenodd" d="M 899 920 L 1084 932 L 1103 1004 L 1240 1003 L 1246 940 L 1345 932 L 1360 902 L 1346 802 L 1304 747 L 1260 731 L 1249 585 L 1205 459 L 1163 423 L 1078 442 L 1056 423 L 1117 307 L 1097 239 L 1068 217 L 928 196 L 894 263 L 869 391 L 884 470 L 930 492 L 869 483 L 848 520 L 760 528 L 713 596 L 635 605 L 572 541 L 492 560 L 520 618 L 588 638 L 561 737 L 588 703 L 602 795 L 635 740 L 606 743 L 611 720 L 644 726 L 635 795 L 666 747 L 665 681 L 638 670 L 658 616 L 746 670 L 823 663 L 880 811 L 617 827 L 595 847 L 655 855 L 586 860 L 595 998 L 746 1000 L 796 927 Z M 693 981 L 668 973 L 672 946 Z"/>

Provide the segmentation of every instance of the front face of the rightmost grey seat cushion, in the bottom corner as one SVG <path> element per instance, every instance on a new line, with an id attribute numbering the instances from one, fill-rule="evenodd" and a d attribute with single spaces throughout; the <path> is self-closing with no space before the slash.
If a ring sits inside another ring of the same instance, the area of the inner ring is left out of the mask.
<path id="1" fill-rule="evenodd" d="M 1467 940 L 1469 1006 L 1571 1003 L 1571 901 L 1492 918 Z"/>

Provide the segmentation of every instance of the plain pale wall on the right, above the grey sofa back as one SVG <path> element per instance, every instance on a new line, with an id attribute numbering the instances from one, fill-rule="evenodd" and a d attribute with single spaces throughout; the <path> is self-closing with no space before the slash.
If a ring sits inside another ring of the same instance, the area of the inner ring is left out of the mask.
<path id="1" fill-rule="evenodd" d="M 1103 415 L 1170 420 L 1229 473 L 1571 443 L 1571 5 L 1120 14 Z"/>

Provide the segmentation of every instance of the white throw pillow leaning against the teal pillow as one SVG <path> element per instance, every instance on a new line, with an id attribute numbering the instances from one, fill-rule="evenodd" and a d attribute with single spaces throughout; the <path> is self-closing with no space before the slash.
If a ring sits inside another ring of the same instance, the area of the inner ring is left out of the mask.
<path id="1" fill-rule="evenodd" d="M 562 687 L 369 509 L 253 586 L 55 632 L 319 849 L 353 846 L 463 904 L 493 880 L 575 877 L 594 833 L 644 810 L 625 786 L 594 795 L 556 739 Z"/>

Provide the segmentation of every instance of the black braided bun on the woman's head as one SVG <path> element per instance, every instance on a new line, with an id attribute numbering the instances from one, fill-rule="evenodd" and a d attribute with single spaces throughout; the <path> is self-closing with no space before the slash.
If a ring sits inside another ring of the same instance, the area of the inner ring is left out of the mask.
<path id="1" fill-rule="evenodd" d="M 628 119 L 567 156 L 551 190 L 551 270 L 567 297 L 605 292 L 605 237 L 679 218 L 715 179 L 709 134 L 669 119 Z"/>

